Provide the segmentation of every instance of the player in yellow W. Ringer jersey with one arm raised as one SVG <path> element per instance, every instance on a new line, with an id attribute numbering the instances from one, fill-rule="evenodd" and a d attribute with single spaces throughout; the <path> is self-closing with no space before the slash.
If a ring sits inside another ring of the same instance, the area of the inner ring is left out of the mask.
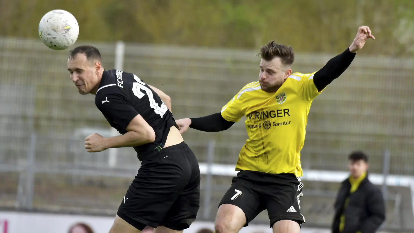
<path id="1" fill-rule="evenodd" d="M 219 113 L 176 121 L 181 133 L 188 127 L 217 132 L 246 116 L 249 138 L 237 160 L 240 172 L 219 204 L 216 233 L 236 233 L 265 209 L 274 233 L 300 231 L 305 222 L 299 206 L 300 151 L 310 104 L 348 68 L 369 38 L 375 39 L 371 30 L 359 27 L 349 48 L 310 74 L 292 73 L 292 48 L 269 42 L 260 48 L 258 82 L 244 86 Z"/>

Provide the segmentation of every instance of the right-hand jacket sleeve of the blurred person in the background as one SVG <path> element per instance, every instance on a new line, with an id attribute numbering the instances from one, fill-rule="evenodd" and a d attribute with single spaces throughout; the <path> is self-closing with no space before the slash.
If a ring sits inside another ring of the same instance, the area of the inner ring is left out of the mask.
<path id="1" fill-rule="evenodd" d="M 375 233 L 385 221 L 385 201 L 380 189 L 370 193 L 367 205 L 370 216 L 361 223 L 361 233 Z"/>

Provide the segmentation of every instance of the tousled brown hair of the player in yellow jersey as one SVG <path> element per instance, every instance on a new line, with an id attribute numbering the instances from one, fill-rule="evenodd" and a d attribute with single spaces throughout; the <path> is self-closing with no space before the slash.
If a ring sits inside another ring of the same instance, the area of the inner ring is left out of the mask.
<path id="1" fill-rule="evenodd" d="M 272 61 L 273 58 L 278 57 L 284 65 L 292 65 L 295 61 L 295 53 L 291 46 L 276 44 L 274 41 L 261 46 L 259 54 L 265 61 Z"/>

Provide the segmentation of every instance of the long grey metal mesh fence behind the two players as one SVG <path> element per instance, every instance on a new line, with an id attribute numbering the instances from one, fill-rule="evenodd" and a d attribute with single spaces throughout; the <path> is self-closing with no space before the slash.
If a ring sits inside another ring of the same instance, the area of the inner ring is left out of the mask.
<path id="1" fill-rule="evenodd" d="M 258 78 L 257 51 L 77 44 L 96 46 L 106 69 L 135 73 L 170 95 L 176 119 L 219 112 L 241 87 Z M 85 152 L 87 135 L 113 131 L 94 106 L 94 96 L 77 93 L 66 70 L 67 56 L 68 51 L 53 51 L 39 40 L 0 38 L 0 205 L 113 214 L 140 164 L 131 148 Z M 293 70 L 316 71 L 333 56 L 296 54 Z M 370 171 L 381 173 L 384 151 L 389 151 L 390 174 L 414 175 L 413 71 L 413 59 L 358 54 L 313 101 L 302 166 L 346 170 L 347 154 L 361 149 L 370 155 Z M 215 141 L 209 162 L 234 164 L 247 134 L 239 122 L 219 133 L 190 129 L 184 138 L 200 162 L 207 162 L 208 142 Z M 230 183 L 231 177 L 203 177 L 202 187 L 214 184 L 208 199 L 217 202 Z M 316 191 L 337 188 L 306 185 Z M 409 192 L 398 190 L 401 195 Z M 391 201 L 393 206 L 395 198 Z M 200 213 L 214 219 L 214 211 L 203 208 Z M 327 226 L 329 218 L 328 213 L 325 220 L 314 221 Z M 402 223 L 396 226 L 404 228 Z"/>

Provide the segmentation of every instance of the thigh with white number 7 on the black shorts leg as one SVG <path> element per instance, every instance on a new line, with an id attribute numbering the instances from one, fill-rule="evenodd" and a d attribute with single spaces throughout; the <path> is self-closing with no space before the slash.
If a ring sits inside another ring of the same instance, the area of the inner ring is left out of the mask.
<path id="1" fill-rule="evenodd" d="M 238 232 L 241 227 L 248 226 L 263 209 L 265 206 L 260 201 L 255 185 L 234 177 L 231 187 L 220 201 L 216 230 Z"/>

